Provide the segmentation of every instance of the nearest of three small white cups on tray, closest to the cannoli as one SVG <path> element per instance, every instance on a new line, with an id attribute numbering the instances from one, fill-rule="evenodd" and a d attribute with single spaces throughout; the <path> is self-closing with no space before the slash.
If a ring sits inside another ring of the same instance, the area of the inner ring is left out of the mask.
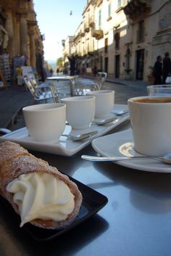
<path id="1" fill-rule="evenodd" d="M 57 142 L 66 122 L 66 105 L 37 104 L 22 109 L 28 133 L 36 141 Z"/>

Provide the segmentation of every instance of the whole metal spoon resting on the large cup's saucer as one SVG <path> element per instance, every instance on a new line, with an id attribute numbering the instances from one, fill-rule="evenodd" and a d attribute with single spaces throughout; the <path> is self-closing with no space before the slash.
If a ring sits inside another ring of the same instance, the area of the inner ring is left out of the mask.
<path id="1" fill-rule="evenodd" d="M 171 164 L 171 153 L 165 154 L 164 157 L 149 157 L 146 155 L 142 156 L 133 156 L 133 157 L 95 157 L 95 156 L 90 156 L 83 154 L 81 156 L 83 160 L 88 160 L 88 161 L 93 161 L 93 162 L 103 162 L 103 161 L 112 161 L 112 162 L 117 162 L 117 161 L 122 161 L 122 160 L 133 160 L 133 159 L 157 159 L 157 160 L 162 160 L 163 162 L 167 164 Z"/>

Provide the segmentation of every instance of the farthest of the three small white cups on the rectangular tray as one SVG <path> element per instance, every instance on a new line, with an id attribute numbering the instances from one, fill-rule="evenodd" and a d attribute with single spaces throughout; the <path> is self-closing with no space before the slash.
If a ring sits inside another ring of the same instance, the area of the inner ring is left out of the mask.
<path id="1" fill-rule="evenodd" d="M 114 91 L 90 91 L 87 95 L 93 95 L 96 97 L 95 117 L 108 117 L 114 107 Z"/>

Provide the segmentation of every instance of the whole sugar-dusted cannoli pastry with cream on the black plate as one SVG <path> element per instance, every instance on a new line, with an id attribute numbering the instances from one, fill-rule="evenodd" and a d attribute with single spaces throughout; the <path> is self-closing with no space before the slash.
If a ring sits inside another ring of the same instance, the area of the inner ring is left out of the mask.
<path id="1" fill-rule="evenodd" d="M 82 202 L 78 186 L 67 176 L 11 141 L 0 143 L 0 193 L 20 215 L 20 227 L 29 222 L 65 228 Z"/>

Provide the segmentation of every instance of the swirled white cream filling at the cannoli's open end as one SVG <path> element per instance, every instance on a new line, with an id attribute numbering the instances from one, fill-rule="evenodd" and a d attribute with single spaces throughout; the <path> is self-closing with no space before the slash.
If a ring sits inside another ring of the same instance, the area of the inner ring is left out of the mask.
<path id="1" fill-rule="evenodd" d="M 50 173 L 22 174 L 7 186 L 14 193 L 14 203 L 18 205 L 22 227 L 35 220 L 66 220 L 74 210 L 74 195 L 64 181 Z"/>

